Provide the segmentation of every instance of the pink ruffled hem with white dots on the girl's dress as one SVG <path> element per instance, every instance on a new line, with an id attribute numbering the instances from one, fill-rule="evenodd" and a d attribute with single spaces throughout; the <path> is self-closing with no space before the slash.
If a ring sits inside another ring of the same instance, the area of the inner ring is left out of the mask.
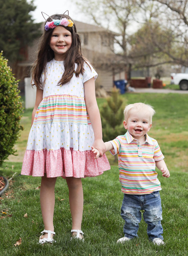
<path id="1" fill-rule="evenodd" d="M 22 175 L 48 178 L 53 177 L 95 177 L 110 169 L 106 155 L 94 159 L 91 150 L 76 151 L 60 148 L 57 150 L 43 149 L 40 151 L 26 150 Z"/>

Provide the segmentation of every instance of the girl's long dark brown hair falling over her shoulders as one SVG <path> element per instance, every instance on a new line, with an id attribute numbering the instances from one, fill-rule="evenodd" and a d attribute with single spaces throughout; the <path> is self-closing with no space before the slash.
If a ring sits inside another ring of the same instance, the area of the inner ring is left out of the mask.
<path id="1" fill-rule="evenodd" d="M 51 17 L 47 19 L 47 21 L 51 21 L 52 19 L 61 19 L 61 18 L 69 18 L 65 14 L 54 14 Z M 72 20 L 72 19 L 71 19 Z M 77 69 L 75 71 L 76 77 L 79 76 L 81 73 L 83 75 L 84 73 L 84 62 L 86 59 L 81 53 L 81 39 L 80 36 L 77 34 L 77 29 L 75 27 L 75 24 L 72 27 L 65 27 L 65 29 L 71 32 L 72 34 L 72 44 L 71 48 L 66 52 L 65 60 L 64 60 L 64 66 L 65 66 L 65 72 L 63 73 L 58 85 L 62 85 L 65 83 L 68 83 L 71 78 L 73 77 L 74 69 L 75 69 L 75 63 L 77 63 Z M 43 35 L 40 39 L 40 44 L 38 47 L 38 55 L 37 59 L 34 62 L 34 65 L 32 67 L 32 85 L 36 85 L 38 88 L 42 88 L 42 73 L 46 73 L 46 65 L 47 62 L 52 60 L 54 58 L 54 52 L 51 50 L 49 44 L 50 44 L 50 38 L 51 34 L 54 29 L 49 29 L 48 31 L 44 30 Z"/>

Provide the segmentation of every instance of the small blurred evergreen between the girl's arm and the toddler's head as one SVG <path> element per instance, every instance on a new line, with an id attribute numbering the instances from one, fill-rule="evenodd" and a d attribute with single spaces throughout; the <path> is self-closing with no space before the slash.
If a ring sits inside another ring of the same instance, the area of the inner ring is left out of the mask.
<path id="1" fill-rule="evenodd" d="M 126 130 L 123 126 L 124 107 L 119 90 L 113 89 L 111 97 L 107 98 L 107 104 L 105 103 L 100 109 L 104 142 L 125 134 Z"/>

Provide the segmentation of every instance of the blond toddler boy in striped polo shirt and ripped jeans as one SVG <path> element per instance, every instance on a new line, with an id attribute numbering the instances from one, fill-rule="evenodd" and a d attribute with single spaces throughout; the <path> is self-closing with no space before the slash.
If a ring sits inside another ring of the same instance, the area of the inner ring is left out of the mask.
<path id="1" fill-rule="evenodd" d="M 124 110 L 123 125 L 127 132 L 113 141 L 105 142 L 106 151 L 118 154 L 119 180 L 124 193 L 121 216 L 125 220 L 124 237 L 117 243 L 124 243 L 134 237 L 143 218 L 147 223 L 147 235 L 153 244 L 164 245 L 162 207 L 155 167 L 162 171 L 163 177 L 170 177 L 157 141 L 147 135 L 152 126 L 153 107 L 144 103 L 127 105 Z M 95 158 L 97 149 L 92 147 Z"/>

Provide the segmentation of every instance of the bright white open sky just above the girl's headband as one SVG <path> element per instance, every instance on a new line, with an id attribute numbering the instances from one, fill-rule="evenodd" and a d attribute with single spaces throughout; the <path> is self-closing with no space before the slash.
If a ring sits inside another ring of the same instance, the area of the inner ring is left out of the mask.
<path id="1" fill-rule="evenodd" d="M 28 2 L 30 1 L 28 0 Z M 69 0 L 34 0 L 34 6 L 37 8 L 34 12 L 31 12 L 31 14 L 36 23 L 45 21 L 41 12 L 45 12 L 50 16 L 56 13 L 61 14 L 66 10 L 69 11 L 69 16 L 73 20 L 86 22 L 86 18 L 83 18 L 83 13 L 80 13 L 77 6 Z M 44 17 L 47 18 L 47 16 Z"/>

